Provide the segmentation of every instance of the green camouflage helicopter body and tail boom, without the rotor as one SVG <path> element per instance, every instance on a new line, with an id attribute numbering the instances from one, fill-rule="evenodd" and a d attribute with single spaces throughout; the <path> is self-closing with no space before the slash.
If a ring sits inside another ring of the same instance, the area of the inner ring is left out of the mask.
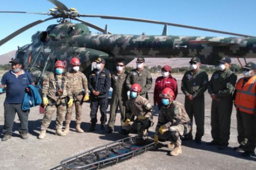
<path id="1" fill-rule="evenodd" d="M 37 32 L 32 43 L 18 52 L 25 68 L 31 70 L 41 70 L 47 64 L 46 70 L 53 71 L 56 60 L 65 61 L 69 70 L 70 59 L 78 57 L 84 72 L 91 70 L 90 65 L 97 57 L 105 58 L 106 67 L 112 70 L 117 59 L 129 63 L 136 57 L 196 56 L 202 64 L 215 65 L 224 55 L 256 58 L 256 38 L 91 34 L 83 23 L 63 22 Z"/>

